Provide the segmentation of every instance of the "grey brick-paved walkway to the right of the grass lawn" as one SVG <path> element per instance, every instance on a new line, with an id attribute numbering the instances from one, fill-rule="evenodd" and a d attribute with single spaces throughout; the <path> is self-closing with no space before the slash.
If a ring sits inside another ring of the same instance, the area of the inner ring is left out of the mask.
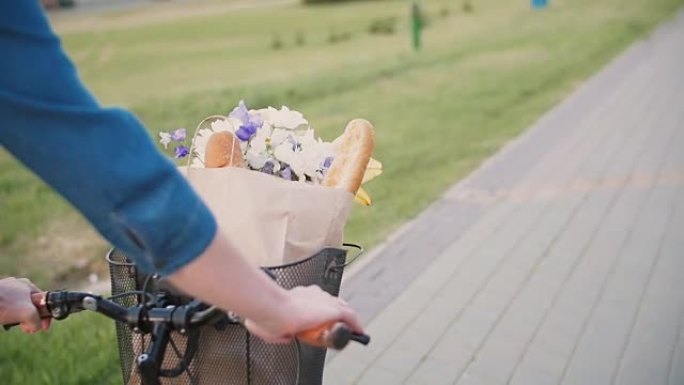
<path id="1" fill-rule="evenodd" d="M 343 285 L 336 384 L 684 384 L 684 12 Z"/>

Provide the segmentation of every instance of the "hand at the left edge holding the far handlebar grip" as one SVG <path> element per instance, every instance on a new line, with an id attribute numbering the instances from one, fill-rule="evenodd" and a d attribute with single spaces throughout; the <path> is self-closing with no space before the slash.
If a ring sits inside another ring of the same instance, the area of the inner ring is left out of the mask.
<path id="1" fill-rule="evenodd" d="M 47 330 L 50 319 L 41 319 L 31 294 L 41 290 L 26 278 L 0 279 L 0 324 L 19 323 L 25 333 Z"/>

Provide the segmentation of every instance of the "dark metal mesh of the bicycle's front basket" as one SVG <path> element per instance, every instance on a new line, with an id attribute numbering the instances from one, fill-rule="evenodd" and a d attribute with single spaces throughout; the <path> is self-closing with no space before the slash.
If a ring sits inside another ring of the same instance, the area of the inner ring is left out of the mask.
<path id="1" fill-rule="evenodd" d="M 324 249 L 300 262 L 269 267 L 276 282 L 287 289 L 318 285 L 337 296 L 342 281 L 346 250 Z M 108 255 L 112 294 L 142 289 L 141 276 L 133 263 L 118 250 Z M 138 304 L 139 297 L 116 300 L 122 306 Z M 116 334 L 124 384 L 139 384 L 134 360 L 149 345 L 149 335 L 133 333 L 116 323 Z M 173 368 L 181 360 L 187 336 L 172 332 L 162 368 Z M 178 350 L 178 352 L 176 351 Z M 180 354 L 178 354 L 180 353 Z M 199 331 L 197 352 L 188 370 L 174 378 L 162 378 L 164 385 L 320 385 L 326 350 L 297 342 L 266 344 L 251 336 L 241 325 L 207 325 Z"/>

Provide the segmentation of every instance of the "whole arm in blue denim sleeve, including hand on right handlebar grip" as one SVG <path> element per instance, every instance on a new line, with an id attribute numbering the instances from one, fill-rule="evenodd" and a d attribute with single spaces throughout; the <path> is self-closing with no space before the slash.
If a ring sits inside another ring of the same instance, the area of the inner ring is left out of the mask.
<path id="1" fill-rule="evenodd" d="M 271 341 L 336 320 L 361 331 L 341 300 L 285 291 L 245 260 L 142 124 L 85 89 L 36 2 L 2 5 L 0 52 L 0 144 L 142 270 L 239 312 Z"/>

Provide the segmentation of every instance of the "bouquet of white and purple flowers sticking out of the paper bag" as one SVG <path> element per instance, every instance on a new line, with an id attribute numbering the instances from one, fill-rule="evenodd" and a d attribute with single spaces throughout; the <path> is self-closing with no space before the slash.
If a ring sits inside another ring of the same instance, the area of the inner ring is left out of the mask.
<path id="1" fill-rule="evenodd" d="M 198 126 L 190 147 L 186 145 L 184 128 L 161 132 L 160 143 L 168 149 L 175 142 L 174 157 L 189 158 L 189 167 L 204 168 L 209 138 L 218 132 L 230 132 L 239 139 L 247 168 L 288 181 L 320 185 L 339 150 L 339 139 L 324 142 L 304 116 L 288 107 L 248 110 L 240 101 L 228 116 L 210 116 Z M 362 183 L 382 173 L 382 164 L 369 161 Z M 371 199 L 362 188 L 355 199 L 370 205 Z"/>

